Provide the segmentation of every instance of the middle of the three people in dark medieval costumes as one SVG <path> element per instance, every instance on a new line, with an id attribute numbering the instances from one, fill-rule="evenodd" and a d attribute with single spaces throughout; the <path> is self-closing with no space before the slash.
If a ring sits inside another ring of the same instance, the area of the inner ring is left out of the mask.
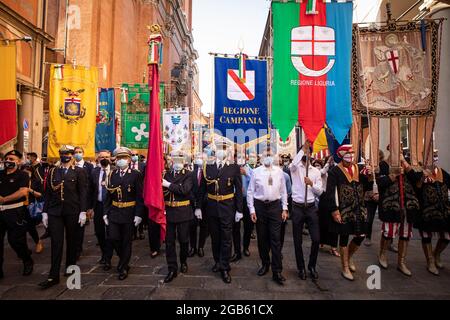
<path id="1" fill-rule="evenodd" d="M 406 276 L 411 271 L 406 266 L 406 253 L 412 237 L 412 223 L 419 212 L 419 200 L 414 186 L 421 173 L 414 171 L 403 155 L 400 156 L 400 173 L 381 174 L 377 179 L 380 191 L 378 216 L 382 221 L 382 236 L 378 262 L 388 268 L 386 251 L 394 237 L 399 236 L 397 269 Z M 392 169 L 392 168 L 391 168 Z"/>

